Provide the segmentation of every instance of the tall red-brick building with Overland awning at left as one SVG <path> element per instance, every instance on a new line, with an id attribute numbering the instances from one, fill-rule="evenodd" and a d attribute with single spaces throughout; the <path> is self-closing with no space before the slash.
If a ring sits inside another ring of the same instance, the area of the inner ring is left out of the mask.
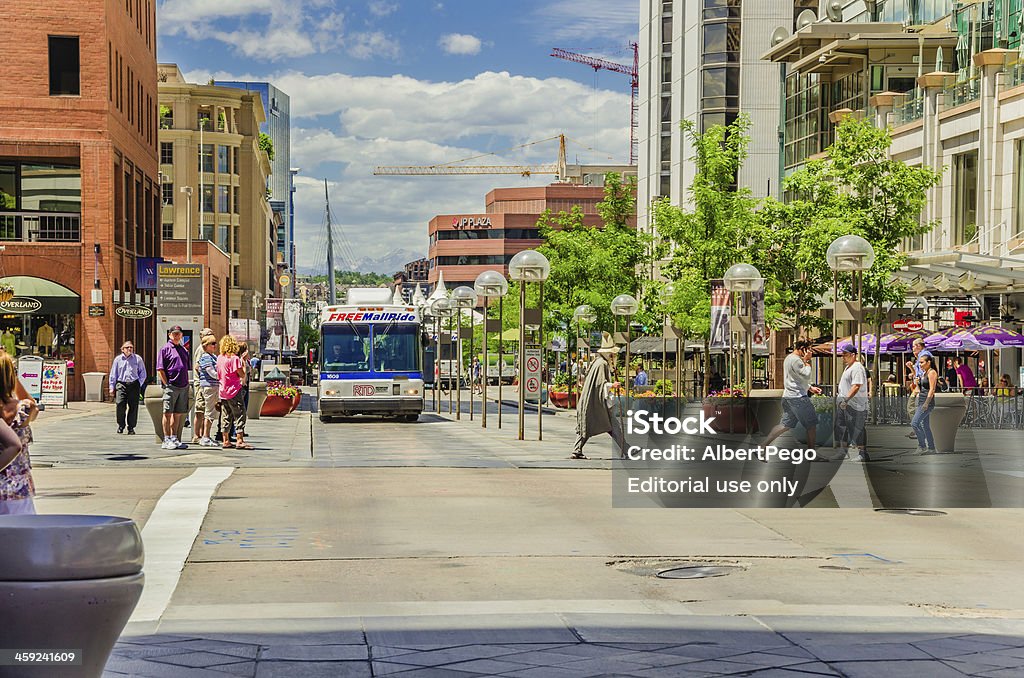
<path id="1" fill-rule="evenodd" d="M 152 305 L 136 282 L 161 251 L 156 3 L 6 0 L 0 25 L 0 282 L 23 299 L 0 333 L 68 359 L 81 398 L 125 338 L 155 359 L 153 316 L 117 310 Z"/>

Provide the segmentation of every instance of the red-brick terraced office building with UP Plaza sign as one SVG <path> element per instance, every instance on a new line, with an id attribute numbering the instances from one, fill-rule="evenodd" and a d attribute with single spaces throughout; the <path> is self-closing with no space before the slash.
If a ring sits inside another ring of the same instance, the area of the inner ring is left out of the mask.
<path id="1" fill-rule="evenodd" d="M 495 188 L 487 194 L 482 214 L 439 214 L 427 229 L 430 246 L 430 287 L 444 270 L 447 287 L 469 285 L 484 270 L 508 276 L 512 257 L 543 244 L 537 221 L 545 210 L 569 212 L 579 205 L 584 223 L 601 225 L 597 204 L 604 200 L 602 186 L 555 183 L 525 188 Z"/>

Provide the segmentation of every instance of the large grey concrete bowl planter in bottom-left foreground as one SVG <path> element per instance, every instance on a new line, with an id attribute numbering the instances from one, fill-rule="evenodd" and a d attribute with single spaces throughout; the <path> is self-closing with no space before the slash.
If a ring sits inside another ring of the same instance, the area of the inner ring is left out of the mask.
<path id="1" fill-rule="evenodd" d="M 6 648 L 81 652 L 77 666 L 0 666 L 0 677 L 99 678 L 142 594 L 142 538 L 101 515 L 0 516 Z"/>

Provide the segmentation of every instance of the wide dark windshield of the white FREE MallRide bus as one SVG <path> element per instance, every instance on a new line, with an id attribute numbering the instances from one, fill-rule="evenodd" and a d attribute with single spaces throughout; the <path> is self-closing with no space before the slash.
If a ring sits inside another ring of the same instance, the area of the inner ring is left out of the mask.
<path id="1" fill-rule="evenodd" d="M 409 324 L 324 325 L 324 372 L 419 372 L 419 327 Z"/>

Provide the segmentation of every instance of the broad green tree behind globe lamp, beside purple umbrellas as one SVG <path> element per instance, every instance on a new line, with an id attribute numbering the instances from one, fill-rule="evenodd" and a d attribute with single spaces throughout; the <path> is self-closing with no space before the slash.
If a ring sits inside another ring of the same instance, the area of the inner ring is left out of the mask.
<path id="1" fill-rule="evenodd" d="M 881 309 L 905 299 L 906 287 L 893 272 L 906 260 L 901 246 L 936 225 L 923 222 L 921 213 L 941 173 L 893 160 L 891 145 L 888 129 L 848 117 L 836 128 L 825 156 L 786 179 L 783 187 L 794 198 L 784 204 L 765 202 L 761 221 L 771 237 L 772 256 L 763 272 L 776 282 L 776 299 L 798 334 L 809 326 L 828 329 L 829 322 L 815 311 L 830 295 L 825 251 L 840 236 L 861 236 L 874 248 L 874 264 L 863 279 L 866 306 Z M 851 284 L 849 276 L 841 277 L 840 294 L 850 294 Z M 873 320 L 881 330 L 881 316 L 876 313 Z"/>

